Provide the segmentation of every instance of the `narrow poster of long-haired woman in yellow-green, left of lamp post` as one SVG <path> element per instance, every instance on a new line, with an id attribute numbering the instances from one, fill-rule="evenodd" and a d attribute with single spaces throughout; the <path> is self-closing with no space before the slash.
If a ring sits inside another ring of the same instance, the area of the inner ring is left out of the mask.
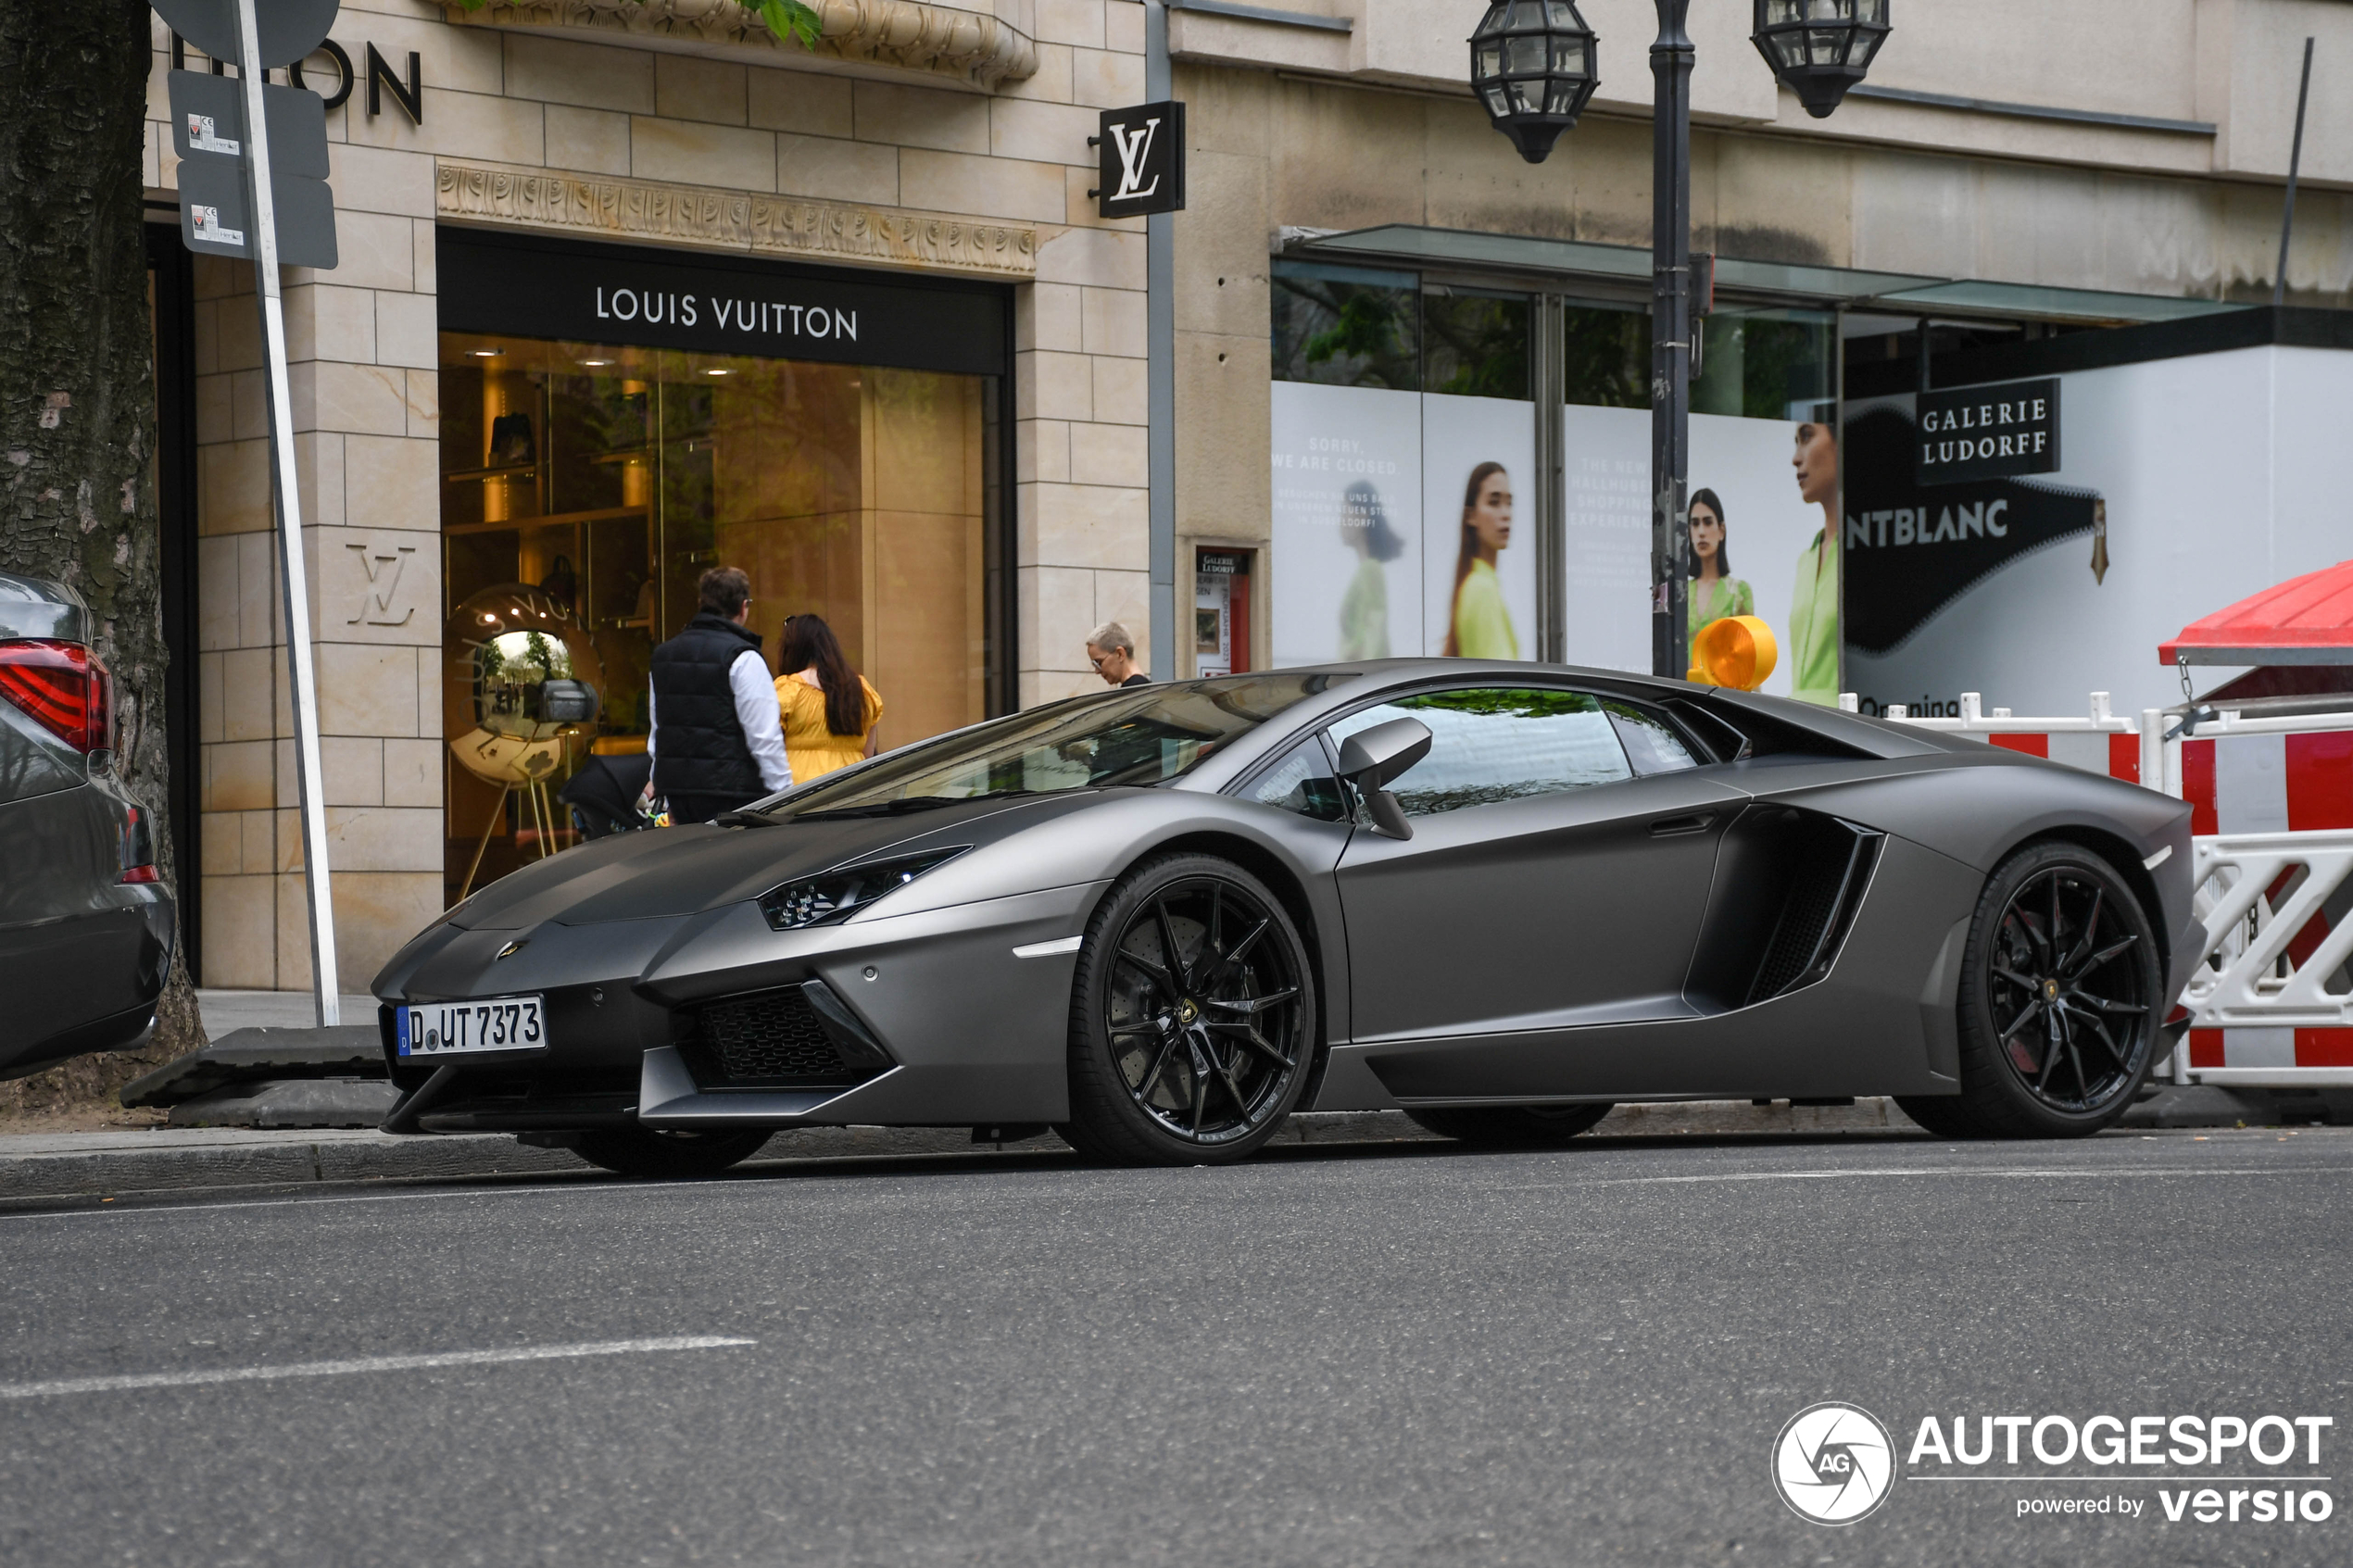
<path id="1" fill-rule="evenodd" d="M 1419 651 L 1537 656 L 1534 475 L 1529 404 L 1445 393 L 1421 400 Z"/>

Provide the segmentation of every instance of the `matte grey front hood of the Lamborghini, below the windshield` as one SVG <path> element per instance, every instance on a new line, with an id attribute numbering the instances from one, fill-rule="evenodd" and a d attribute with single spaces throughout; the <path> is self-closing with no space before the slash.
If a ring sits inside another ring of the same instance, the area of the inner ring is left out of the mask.
<path id="1" fill-rule="evenodd" d="M 906 816 L 784 820 L 769 827 L 624 832 L 501 877 L 449 910 L 447 922 L 466 931 L 525 931 L 541 922 L 593 926 L 699 914 L 892 849 L 1000 839 L 1040 816 L 1078 809 L 1096 792 L 1073 795 L 1078 799 L 984 799 Z"/>

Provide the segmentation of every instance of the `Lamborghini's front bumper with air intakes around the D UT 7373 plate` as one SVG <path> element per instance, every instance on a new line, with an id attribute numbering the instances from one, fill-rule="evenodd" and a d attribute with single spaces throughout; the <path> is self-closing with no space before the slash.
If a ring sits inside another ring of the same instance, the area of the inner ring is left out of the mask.
<path id="1" fill-rule="evenodd" d="M 913 914 L 882 905 L 802 931 L 769 929 L 751 903 L 591 926 L 440 926 L 379 980 L 393 1081 L 409 1091 L 386 1131 L 1064 1121 L 1078 954 L 1061 938 L 1085 929 L 1104 886 Z M 1038 945 L 1061 950 L 1014 952 Z M 515 994 L 546 999 L 546 1046 L 398 1058 L 393 1006 Z M 762 997 L 788 997 L 802 1023 L 814 1013 L 842 1070 L 744 1072 L 758 1053 L 720 1051 L 713 1020 L 725 1013 L 736 1044 L 744 1004 Z"/>

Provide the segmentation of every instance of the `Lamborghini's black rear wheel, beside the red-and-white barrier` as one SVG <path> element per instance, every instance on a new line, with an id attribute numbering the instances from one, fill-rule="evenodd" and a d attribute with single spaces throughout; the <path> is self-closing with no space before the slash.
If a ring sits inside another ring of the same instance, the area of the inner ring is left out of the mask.
<path id="1" fill-rule="evenodd" d="M 2033 844 L 1986 882 L 1960 978 L 1960 1095 L 1897 1103 L 1946 1138 L 2082 1138 L 2155 1058 L 2162 966 L 2115 867 Z"/>

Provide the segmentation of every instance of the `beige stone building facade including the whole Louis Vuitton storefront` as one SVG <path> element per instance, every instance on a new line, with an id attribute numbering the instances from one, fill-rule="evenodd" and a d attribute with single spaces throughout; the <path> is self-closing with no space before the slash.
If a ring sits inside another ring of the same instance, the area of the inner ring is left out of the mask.
<path id="1" fill-rule="evenodd" d="M 572 842 L 555 792 L 645 750 L 718 562 L 769 661 L 826 618 L 880 745 L 1099 686 L 1087 630 L 1146 632 L 1144 226 L 1087 197 L 1144 7 L 826 7 L 814 49 L 701 0 L 344 7 L 365 80 L 306 63 L 339 263 L 282 284 L 346 992 Z M 256 303 L 179 247 L 174 63 L 207 66 L 158 21 L 181 907 L 200 985 L 301 990 Z"/>

